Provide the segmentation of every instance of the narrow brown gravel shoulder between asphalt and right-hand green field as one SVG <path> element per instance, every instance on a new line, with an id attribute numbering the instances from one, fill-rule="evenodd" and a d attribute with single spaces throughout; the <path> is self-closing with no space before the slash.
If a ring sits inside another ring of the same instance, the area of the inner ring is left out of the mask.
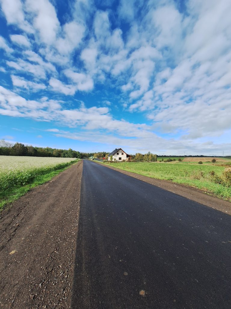
<path id="1" fill-rule="evenodd" d="M 96 161 L 93 161 L 95 163 L 98 164 L 102 164 Z M 155 178 L 151 178 L 151 177 L 147 177 L 147 176 L 143 176 L 143 175 L 139 175 L 139 174 L 135 174 L 129 171 L 124 171 L 121 170 L 119 168 L 116 167 L 112 167 L 112 166 L 108 166 L 106 164 L 103 164 L 103 166 L 106 166 L 108 168 L 111 168 L 113 170 L 116 170 L 120 173 L 126 174 L 128 176 L 132 176 L 136 179 L 145 181 L 149 184 L 153 184 L 159 188 L 165 189 L 167 191 L 176 193 L 180 196 L 186 197 L 189 200 L 195 201 L 197 203 L 203 204 L 205 206 L 208 207 L 212 207 L 214 209 L 220 210 L 222 212 L 224 212 L 225 214 L 230 214 L 231 215 L 231 202 L 229 201 L 224 201 L 221 200 L 217 197 L 213 197 L 197 188 L 192 188 L 192 187 L 188 187 L 185 186 L 183 184 L 174 184 L 171 181 L 167 181 L 167 180 L 160 180 L 160 179 L 155 179 Z"/>

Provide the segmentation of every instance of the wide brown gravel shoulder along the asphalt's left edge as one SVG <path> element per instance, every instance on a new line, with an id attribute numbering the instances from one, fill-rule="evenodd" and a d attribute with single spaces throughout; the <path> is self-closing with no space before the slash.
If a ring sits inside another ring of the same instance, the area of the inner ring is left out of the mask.
<path id="1" fill-rule="evenodd" d="M 83 161 L 0 216 L 0 307 L 69 308 Z"/>

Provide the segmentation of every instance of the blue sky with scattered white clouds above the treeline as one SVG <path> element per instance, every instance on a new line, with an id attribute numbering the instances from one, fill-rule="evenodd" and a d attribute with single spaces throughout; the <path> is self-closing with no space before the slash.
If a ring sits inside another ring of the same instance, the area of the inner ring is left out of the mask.
<path id="1" fill-rule="evenodd" d="M 230 0 L 0 5 L 0 138 L 231 154 Z"/>

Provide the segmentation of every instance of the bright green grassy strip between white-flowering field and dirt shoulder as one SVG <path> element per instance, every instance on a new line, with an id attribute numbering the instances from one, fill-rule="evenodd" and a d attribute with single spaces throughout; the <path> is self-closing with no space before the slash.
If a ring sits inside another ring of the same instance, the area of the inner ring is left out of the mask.
<path id="1" fill-rule="evenodd" d="M 45 182 L 51 180 L 56 175 L 60 174 L 62 171 L 65 171 L 67 168 L 71 167 L 71 165 L 78 163 L 78 161 L 67 164 L 66 167 L 59 168 L 54 171 L 50 171 L 43 175 L 37 175 L 33 180 L 30 181 L 29 184 L 26 185 L 18 185 L 11 188 L 8 188 L 4 191 L 0 192 L 0 212 L 3 210 L 4 206 L 9 203 L 12 203 L 19 199 L 19 197 L 25 195 L 30 189 L 39 186 L 40 184 L 44 184 Z"/>

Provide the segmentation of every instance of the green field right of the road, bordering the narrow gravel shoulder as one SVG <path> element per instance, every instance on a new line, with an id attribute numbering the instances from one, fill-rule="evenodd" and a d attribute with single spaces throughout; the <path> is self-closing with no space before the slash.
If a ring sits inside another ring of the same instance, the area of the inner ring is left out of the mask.
<path id="1" fill-rule="evenodd" d="M 144 163 L 144 162 L 121 162 L 103 163 L 116 168 L 130 171 L 136 174 L 174 183 L 184 184 L 211 193 L 217 197 L 231 201 L 230 172 L 224 174 L 224 166 L 200 165 L 198 163 Z M 228 178 L 227 178 L 228 177 Z"/>

